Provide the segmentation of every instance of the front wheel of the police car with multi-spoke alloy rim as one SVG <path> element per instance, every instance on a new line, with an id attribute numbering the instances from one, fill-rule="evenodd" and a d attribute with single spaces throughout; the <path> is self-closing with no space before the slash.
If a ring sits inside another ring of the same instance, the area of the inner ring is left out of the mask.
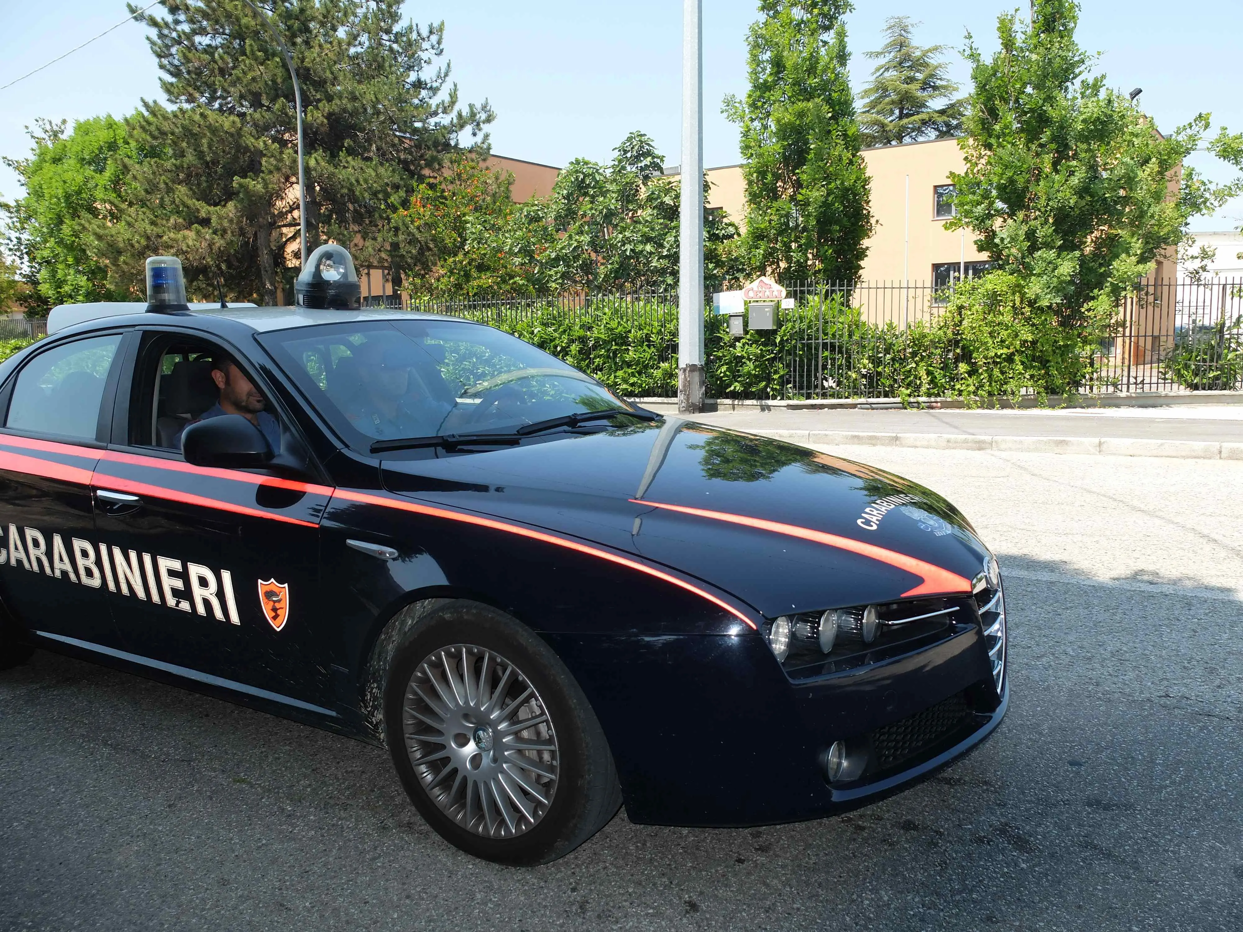
<path id="1" fill-rule="evenodd" d="M 608 741 L 552 649 L 516 619 L 459 599 L 393 652 L 384 736 L 423 818 L 467 854 L 553 861 L 622 805 Z"/>

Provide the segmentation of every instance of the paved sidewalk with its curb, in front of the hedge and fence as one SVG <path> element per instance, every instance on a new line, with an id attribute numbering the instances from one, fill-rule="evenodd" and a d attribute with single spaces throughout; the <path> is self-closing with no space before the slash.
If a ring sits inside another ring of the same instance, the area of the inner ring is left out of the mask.
<path id="1" fill-rule="evenodd" d="M 743 410 L 706 424 L 796 444 L 1243 460 L 1243 405 L 1025 410 Z"/>

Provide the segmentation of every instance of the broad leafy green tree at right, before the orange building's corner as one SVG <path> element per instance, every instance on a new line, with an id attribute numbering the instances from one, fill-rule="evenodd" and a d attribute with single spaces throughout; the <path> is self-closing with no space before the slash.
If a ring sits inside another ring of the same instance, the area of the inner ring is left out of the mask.
<path id="1" fill-rule="evenodd" d="M 1032 9 L 1030 24 L 998 17 L 1001 47 L 991 57 L 967 36 L 975 88 L 948 226 L 975 230 L 977 247 L 1014 276 L 1025 301 L 1054 308 L 1060 326 L 1100 324 L 1157 255 L 1185 239 L 1188 220 L 1233 188 L 1182 168 L 1207 117 L 1161 135 L 1104 75 L 1088 75 L 1075 0 L 1034 0 Z"/>

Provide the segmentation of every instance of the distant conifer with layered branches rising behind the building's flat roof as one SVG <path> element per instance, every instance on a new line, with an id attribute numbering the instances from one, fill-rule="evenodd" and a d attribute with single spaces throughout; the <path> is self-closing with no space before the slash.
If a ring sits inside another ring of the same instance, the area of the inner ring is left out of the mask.
<path id="1" fill-rule="evenodd" d="M 906 16 L 890 16 L 885 20 L 888 41 L 866 52 L 880 63 L 860 94 L 864 145 L 943 139 L 962 132 L 965 102 L 955 98 L 958 86 L 948 77 L 945 46 L 915 45 L 916 25 Z"/>

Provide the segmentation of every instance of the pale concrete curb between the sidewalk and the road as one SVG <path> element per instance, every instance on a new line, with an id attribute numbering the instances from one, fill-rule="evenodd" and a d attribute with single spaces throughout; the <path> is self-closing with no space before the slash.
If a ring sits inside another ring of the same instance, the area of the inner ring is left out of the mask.
<path id="1" fill-rule="evenodd" d="M 994 450 L 1009 454 L 1094 454 L 1163 456 L 1177 460 L 1243 461 L 1243 444 L 1207 440 L 1140 440 L 1129 437 L 1016 437 L 975 434 L 864 434 L 845 430 L 751 430 L 804 446 L 906 446 L 925 450 Z"/>

